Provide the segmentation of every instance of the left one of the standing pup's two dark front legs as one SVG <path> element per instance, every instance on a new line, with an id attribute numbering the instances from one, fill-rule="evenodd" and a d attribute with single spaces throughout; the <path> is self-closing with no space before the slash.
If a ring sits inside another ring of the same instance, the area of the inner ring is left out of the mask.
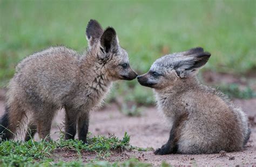
<path id="1" fill-rule="evenodd" d="M 65 139 L 74 139 L 77 128 L 77 110 L 70 106 L 65 106 Z"/>

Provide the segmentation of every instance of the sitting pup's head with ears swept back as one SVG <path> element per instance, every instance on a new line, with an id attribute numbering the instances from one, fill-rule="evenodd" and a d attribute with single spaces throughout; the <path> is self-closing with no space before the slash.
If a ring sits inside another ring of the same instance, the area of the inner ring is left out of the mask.
<path id="1" fill-rule="evenodd" d="M 159 90 L 179 84 L 180 81 L 195 76 L 210 56 L 210 53 L 204 52 L 200 47 L 165 55 L 157 59 L 146 74 L 138 76 L 138 82 Z"/>

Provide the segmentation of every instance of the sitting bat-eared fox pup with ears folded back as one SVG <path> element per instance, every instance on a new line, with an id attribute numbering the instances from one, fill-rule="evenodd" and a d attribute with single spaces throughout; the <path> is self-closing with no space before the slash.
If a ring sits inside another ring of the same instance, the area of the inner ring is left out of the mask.
<path id="1" fill-rule="evenodd" d="M 241 150 L 248 138 L 247 117 L 223 93 L 199 83 L 195 77 L 211 54 L 203 48 L 174 53 L 156 60 L 149 72 L 138 76 L 153 88 L 158 110 L 171 125 L 169 140 L 154 154 L 210 154 Z"/>

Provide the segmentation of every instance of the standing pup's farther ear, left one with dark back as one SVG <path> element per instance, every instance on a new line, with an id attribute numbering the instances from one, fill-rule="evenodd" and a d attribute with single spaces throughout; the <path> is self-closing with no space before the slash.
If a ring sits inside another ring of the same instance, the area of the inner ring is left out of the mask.
<path id="1" fill-rule="evenodd" d="M 89 47 L 99 40 L 103 34 L 102 26 L 96 20 L 90 20 L 86 27 L 86 39 L 88 41 Z"/>

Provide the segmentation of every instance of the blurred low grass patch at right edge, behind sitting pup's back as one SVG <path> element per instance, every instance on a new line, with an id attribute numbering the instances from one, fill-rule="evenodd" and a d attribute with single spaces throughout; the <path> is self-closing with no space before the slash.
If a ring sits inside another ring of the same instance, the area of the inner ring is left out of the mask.
<path id="1" fill-rule="evenodd" d="M 250 99 L 256 97 L 256 92 L 249 86 L 241 89 L 238 84 L 220 85 L 218 88 L 230 98 Z"/>

